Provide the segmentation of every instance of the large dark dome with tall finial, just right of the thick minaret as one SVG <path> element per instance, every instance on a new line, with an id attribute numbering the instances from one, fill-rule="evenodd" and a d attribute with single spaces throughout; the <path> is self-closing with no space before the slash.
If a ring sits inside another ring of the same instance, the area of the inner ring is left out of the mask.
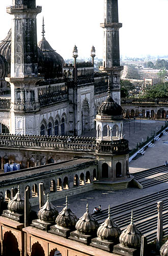
<path id="1" fill-rule="evenodd" d="M 44 37 L 44 18 L 43 18 L 42 39 L 38 47 L 43 52 L 43 75 L 45 79 L 63 76 L 64 59 L 60 54 L 55 52 Z"/>

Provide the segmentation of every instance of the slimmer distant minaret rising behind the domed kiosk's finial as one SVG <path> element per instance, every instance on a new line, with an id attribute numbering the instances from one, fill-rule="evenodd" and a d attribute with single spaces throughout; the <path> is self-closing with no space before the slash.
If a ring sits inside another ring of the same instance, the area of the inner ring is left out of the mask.
<path id="1" fill-rule="evenodd" d="M 120 104 L 120 66 L 118 0 L 104 0 L 104 30 L 103 66 L 102 71 L 109 74 L 113 99 Z"/>

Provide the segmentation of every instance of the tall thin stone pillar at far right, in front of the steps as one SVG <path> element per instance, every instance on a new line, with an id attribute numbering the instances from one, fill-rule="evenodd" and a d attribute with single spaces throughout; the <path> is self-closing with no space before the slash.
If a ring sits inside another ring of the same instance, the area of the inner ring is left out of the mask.
<path id="1" fill-rule="evenodd" d="M 157 202 L 157 211 L 158 211 L 158 219 L 157 219 L 157 241 L 156 241 L 156 248 L 160 250 L 161 242 L 163 238 L 163 201 Z"/>

